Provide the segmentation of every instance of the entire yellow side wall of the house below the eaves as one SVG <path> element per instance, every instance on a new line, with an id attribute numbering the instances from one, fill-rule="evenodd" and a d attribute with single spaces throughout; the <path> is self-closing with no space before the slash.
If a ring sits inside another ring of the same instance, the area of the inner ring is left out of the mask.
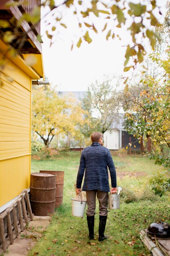
<path id="1" fill-rule="evenodd" d="M 10 80 L 10 78 L 13 80 Z M 31 77 L 7 61 L 0 74 L 0 207 L 29 187 Z"/>

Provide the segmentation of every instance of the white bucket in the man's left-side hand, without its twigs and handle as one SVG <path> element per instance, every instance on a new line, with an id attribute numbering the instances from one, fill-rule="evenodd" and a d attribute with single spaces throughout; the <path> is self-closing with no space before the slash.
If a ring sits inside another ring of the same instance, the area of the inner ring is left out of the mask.
<path id="1" fill-rule="evenodd" d="M 72 216 L 83 217 L 86 208 L 86 201 L 77 201 L 71 198 Z"/>

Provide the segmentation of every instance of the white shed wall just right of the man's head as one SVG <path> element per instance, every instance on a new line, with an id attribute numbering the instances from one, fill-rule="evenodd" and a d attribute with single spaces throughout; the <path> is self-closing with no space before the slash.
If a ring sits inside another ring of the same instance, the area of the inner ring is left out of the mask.
<path id="1" fill-rule="evenodd" d="M 119 149 L 119 130 L 113 129 L 110 131 L 104 132 L 104 146 L 108 149 L 118 150 Z"/>

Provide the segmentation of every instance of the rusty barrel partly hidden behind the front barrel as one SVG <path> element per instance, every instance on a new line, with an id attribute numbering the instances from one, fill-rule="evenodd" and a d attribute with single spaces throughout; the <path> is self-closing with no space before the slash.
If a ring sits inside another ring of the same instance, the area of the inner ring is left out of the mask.
<path id="1" fill-rule="evenodd" d="M 55 207 L 59 207 L 63 203 L 64 171 L 40 171 L 40 173 L 56 175 Z"/>

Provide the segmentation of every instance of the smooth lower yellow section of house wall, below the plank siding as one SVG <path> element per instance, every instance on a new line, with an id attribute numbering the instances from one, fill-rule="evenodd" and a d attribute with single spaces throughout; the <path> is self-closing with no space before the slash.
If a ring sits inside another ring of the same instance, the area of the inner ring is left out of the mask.
<path id="1" fill-rule="evenodd" d="M 29 187 L 30 156 L 0 161 L 0 207 Z"/>

